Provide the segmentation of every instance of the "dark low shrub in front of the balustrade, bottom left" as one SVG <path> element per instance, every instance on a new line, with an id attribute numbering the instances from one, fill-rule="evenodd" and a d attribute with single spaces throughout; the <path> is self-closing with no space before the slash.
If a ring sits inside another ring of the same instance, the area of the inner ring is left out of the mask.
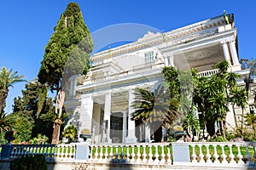
<path id="1" fill-rule="evenodd" d="M 10 170 L 48 170 L 42 155 L 20 156 L 10 162 Z"/>

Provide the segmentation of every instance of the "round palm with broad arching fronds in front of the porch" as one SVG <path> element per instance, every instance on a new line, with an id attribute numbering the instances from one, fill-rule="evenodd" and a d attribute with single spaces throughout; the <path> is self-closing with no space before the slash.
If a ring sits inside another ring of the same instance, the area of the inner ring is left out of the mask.
<path id="1" fill-rule="evenodd" d="M 132 104 L 136 111 L 131 113 L 131 119 L 139 122 L 149 122 L 154 130 L 154 141 L 161 141 L 161 126 L 172 125 L 177 116 L 178 102 L 170 100 L 166 89 L 162 86 L 150 92 L 136 88 L 135 101 Z"/>

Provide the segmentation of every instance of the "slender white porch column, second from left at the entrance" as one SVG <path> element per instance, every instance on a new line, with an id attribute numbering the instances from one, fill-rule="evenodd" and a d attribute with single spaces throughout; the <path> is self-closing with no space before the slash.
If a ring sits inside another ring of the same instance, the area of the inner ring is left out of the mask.
<path id="1" fill-rule="evenodd" d="M 110 139 L 110 115 L 111 115 L 111 94 L 105 95 L 105 105 L 104 105 L 104 120 L 108 121 L 108 127 L 106 132 L 107 143 L 111 144 Z"/>

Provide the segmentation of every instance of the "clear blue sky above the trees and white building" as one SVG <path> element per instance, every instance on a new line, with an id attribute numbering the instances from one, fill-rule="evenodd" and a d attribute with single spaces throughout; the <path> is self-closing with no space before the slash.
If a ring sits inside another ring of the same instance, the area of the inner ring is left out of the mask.
<path id="1" fill-rule="evenodd" d="M 0 67 L 24 75 L 27 81 L 37 77 L 44 48 L 61 14 L 71 1 L 2 1 L 0 5 Z M 137 23 L 159 30 L 173 29 L 227 13 L 235 14 L 240 58 L 255 58 L 256 3 L 228 0 L 77 0 L 91 32 L 105 26 Z M 146 33 L 146 32 L 145 32 Z M 143 35 L 137 35 L 142 37 Z M 24 83 L 9 89 L 6 112 L 12 111 L 15 96 Z"/>

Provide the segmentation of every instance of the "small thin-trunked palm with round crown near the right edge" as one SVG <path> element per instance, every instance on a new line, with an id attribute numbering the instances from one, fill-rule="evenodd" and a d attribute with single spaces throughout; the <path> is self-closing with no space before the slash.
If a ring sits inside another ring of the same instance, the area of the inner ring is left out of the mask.
<path id="1" fill-rule="evenodd" d="M 232 88 L 230 90 L 230 102 L 241 107 L 241 129 L 243 127 L 244 110 L 247 105 L 248 92 L 246 88 Z"/>

